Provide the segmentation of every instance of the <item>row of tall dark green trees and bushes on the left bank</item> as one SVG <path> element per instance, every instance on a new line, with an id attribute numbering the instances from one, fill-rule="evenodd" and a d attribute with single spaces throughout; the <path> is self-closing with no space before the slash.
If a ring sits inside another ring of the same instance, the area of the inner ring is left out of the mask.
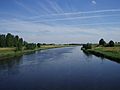
<path id="1" fill-rule="evenodd" d="M 40 48 L 40 43 L 28 43 L 20 38 L 18 35 L 12 35 L 11 33 L 0 34 L 0 47 L 15 47 L 17 51 L 23 49 L 35 49 Z"/>

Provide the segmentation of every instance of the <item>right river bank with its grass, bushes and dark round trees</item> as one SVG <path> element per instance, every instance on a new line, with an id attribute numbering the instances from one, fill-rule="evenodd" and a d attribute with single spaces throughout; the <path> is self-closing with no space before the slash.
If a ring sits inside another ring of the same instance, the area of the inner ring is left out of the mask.
<path id="1" fill-rule="evenodd" d="M 106 43 L 104 39 L 101 39 L 99 44 L 83 44 L 81 49 L 89 54 L 120 62 L 120 42 L 110 40 Z"/>

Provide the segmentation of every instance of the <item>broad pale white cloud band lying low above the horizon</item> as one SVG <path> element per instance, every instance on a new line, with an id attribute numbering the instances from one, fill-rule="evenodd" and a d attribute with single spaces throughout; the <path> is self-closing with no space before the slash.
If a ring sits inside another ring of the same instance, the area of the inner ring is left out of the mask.
<path id="1" fill-rule="evenodd" d="M 97 42 L 101 37 L 106 39 L 111 36 L 119 40 L 120 27 L 72 27 L 50 26 L 42 23 L 33 23 L 20 20 L 6 20 L 0 22 L 0 33 L 11 32 L 23 37 L 29 42 L 70 43 L 70 42 Z"/>

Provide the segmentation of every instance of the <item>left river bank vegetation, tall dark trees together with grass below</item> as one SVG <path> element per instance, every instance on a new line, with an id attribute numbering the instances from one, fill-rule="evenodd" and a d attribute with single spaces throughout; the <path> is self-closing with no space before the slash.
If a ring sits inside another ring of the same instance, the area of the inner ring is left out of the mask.
<path id="1" fill-rule="evenodd" d="M 0 60 L 19 57 L 37 50 L 73 46 L 72 44 L 28 43 L 18 35 L 0 34 Z"/>

